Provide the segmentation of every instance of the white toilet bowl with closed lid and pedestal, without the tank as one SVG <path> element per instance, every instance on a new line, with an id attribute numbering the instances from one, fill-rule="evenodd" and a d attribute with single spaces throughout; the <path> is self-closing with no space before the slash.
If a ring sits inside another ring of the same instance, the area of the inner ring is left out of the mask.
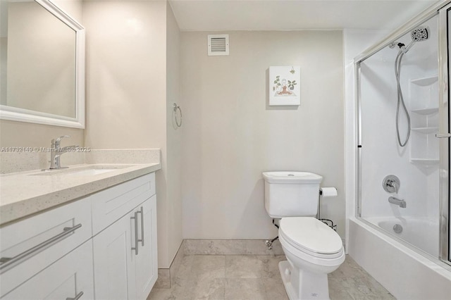
<path id="1" fill-rule="evenodd" d="M 329 299 L 328 273 L 345 261 L 340 236 L 311 217 L 280 220 L 279 239 L 288 261 L 279 263 L 290 300 Z"/>

